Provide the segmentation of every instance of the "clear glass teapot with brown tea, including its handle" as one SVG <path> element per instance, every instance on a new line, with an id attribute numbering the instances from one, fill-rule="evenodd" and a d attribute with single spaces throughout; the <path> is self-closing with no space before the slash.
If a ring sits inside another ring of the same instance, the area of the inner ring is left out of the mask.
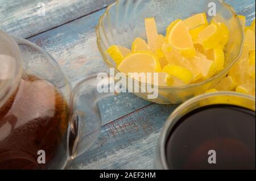
<path id="1" fill-rule="evenodd" d="M 90 78 L 71 91 L 49 54 L 0 31 L 0 170 L 64 169 L 84 153 L 101 128 L 96 87 Z"/>

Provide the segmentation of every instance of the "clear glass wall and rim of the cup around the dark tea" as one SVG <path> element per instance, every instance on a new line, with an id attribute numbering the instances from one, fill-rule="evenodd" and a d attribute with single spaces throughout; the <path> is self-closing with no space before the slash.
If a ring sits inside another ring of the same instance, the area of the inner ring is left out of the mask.
<path id="1" fill-rule="evenodd" d="M 193 110 L 196 110 L 197 108 L 220 104 L 238 106 L 255 112 L 255 98 L 250 95 L 238 94 L 237 92 L 214 92 L 189 99 L 187 102 L 181 104 L 174 112 L 172 112 L 164 124 L 162 133 L 160 134 L 158 146 L 156 148 L 155 168 L 164 170 L 171 169 L 168 166 L 167 161 L 167 141 L 172 136 L 172 133 L 174 133 L 176 130 L 176 125 L 180 123 L 179 121 L 181 117 L 187 115 Z M 180 125 L 182 124 L 183 123 L 180 123 Z M 183 155 L 180 155 L 180 157 L 182 156 Z M 200 156 L 201 155 L 197 155 L 198 158 L 200 158 Z"/>

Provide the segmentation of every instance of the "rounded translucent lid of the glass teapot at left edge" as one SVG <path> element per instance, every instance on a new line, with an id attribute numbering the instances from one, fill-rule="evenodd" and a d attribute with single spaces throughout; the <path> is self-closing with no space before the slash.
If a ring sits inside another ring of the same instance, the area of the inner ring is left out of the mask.
<path id="1" fill-rule="evenodd" d="M 0 30 L 0 107 L 15 91 L 22 75 L 18 45 Z"/>

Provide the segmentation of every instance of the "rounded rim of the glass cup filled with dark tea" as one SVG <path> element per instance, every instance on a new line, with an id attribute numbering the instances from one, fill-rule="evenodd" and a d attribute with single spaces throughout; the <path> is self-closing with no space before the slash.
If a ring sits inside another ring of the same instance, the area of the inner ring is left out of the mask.
<path id="1" fill-rule="evenodd" d="M 255 97 L 251 96 L 251 95 L 246 95 L 246 94 L 241 94 L 238 92 L 232 92 L 232 91 L 220 91 L 220 92 L 212 92 L 212 93 L 208 93 L 208 94 L 202 94 L 199 96 L 196 96 L 194 98 L 191 98 L 189 100 L 187 100 L 187 102 L 184 102 L 183 104 L 181 104 L 179 107 L 177 107 L 174 112 L 171 113 L 171 115 L 168 117 L 168 119 L 166 120 L 166 123 L 164 124 L 163 128 L 162 128 L 162 132 L 160 133 L 160 137 L 159 137 L 159 142 L 158 142 L 158 151 L 159 151 L 159 159 L 160 159 L 160 163 L 163 167 L 163 169 L 168 169 L 168 163 L 167 163 L 167 159 L 166 159 L 166 139 L 168 134 L 171 132 L 171 130 L 174 128 L 174 125 L 179 121 L 179 119 L 176 119 L 182 110 L 184 110 L 184 108 L 187 108 L 189 106 L 192 106 L 193 104 L 199 102 L 200 100 L 204 100 L 204 99 L 208 99 L 208 98 L 213 98 L 213 97 L 217 97 L 217 96 L 233 96 L 233 97 L 237 97 L 237 98 L 242 98 L 242 99 L 246 99 L 246 100 L 250 100 L 252 102 L 254 102 L 255 105 Z M 223 104 L 223 103 L 212 103 L 212 104 L 208 104 L 209 105 L 214 105 L 214 104 Z M 230 104 L 233 105 L 232 103 L 226 102 L 225 104 Z M 207 106 L 207 105 L 204 105 Z M 200 108 L 203 106 L 199 106 L 197 108 Z M 243 106 L 241 106 L 243 107 Z M 195 110 L 195 109 L 193 109 Z M 189 110 L 193 111 L 193 110 Z M 255 106 L 253 108 L 251 108 L 251 110 L 255 111 Z M 188 113 L 186 112 L 186 113 Z"/>

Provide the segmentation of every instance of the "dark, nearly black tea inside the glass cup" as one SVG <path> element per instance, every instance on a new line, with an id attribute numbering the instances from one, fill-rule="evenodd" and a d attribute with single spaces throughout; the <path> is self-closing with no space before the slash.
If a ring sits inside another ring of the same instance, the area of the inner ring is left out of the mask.
<path id="1" fill-rule="evenodd" d="M 182 116 L 168 134 L 168 169 L 255 169 L 255 112 L 228 104 Z"/>

